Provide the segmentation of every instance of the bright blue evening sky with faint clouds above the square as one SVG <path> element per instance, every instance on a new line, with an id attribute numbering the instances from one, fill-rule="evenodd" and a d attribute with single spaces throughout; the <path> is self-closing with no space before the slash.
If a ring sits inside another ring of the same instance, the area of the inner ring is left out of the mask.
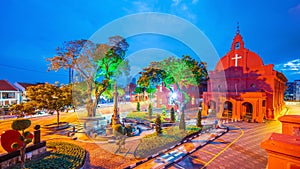
<path id="1" fill-rule="evenodd" d="M 55 55 L 56 47 L 89 39 L 112 21 L 141 12 L 166 13 L 191 22 L 219 57 L 229 51 L 239 22 L 246 48 L 258 53 L 265 64 L 274 64 L 289 81 L 300 79 L 299 0 L 2 0 L 0 79 L 68 83 L 67 71 L 47 72 L 46 58 Z M 128 42 L 127 55 L 134 60 L 147 60 L 138 58 L 147 54 L 148 61 L 162 55 L 196 55 L 186 44 L 162 35 L 137 35 Z M 147 49 L 153 49 L 151 54 Z"/>

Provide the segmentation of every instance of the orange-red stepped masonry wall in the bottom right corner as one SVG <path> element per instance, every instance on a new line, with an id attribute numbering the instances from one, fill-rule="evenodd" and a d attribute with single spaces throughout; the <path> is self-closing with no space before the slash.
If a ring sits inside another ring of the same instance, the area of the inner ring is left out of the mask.
<path id="1" fill-rule="evenodd" d="M 267 169 L 300 168 L 300 116 L 285 115 L 279 121 L 282 134 L 271 133 L 260 145 L 268 153 Z"/>

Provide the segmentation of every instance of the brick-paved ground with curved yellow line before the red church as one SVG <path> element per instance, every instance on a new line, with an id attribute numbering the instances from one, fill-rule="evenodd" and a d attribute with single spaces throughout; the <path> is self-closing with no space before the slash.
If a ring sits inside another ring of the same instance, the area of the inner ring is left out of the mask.
<path id="1" fill-rule="evenodd" d="M 169 168 L 265 169 L 267 154 L 260 148 L 260 142 L 271 132 L 280 133 L 281 123 L 236 122 L 228 126 L 229 132 Z"/>

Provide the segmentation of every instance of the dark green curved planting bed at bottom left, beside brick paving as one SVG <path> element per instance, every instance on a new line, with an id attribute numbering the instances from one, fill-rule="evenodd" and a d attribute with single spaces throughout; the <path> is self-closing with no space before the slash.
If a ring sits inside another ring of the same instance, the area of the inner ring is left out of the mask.
<path id="1" fill-rule="evenodd" d="M 86 152 L 80 146 L 66 142 L 49 142 L 47 148 L 52 152 L 43 159 L 26 162 L 27 169 L 69 169 L 80 168 L 84 164 Z M 15 168 L 18 168 L 16 166 Z"/>

